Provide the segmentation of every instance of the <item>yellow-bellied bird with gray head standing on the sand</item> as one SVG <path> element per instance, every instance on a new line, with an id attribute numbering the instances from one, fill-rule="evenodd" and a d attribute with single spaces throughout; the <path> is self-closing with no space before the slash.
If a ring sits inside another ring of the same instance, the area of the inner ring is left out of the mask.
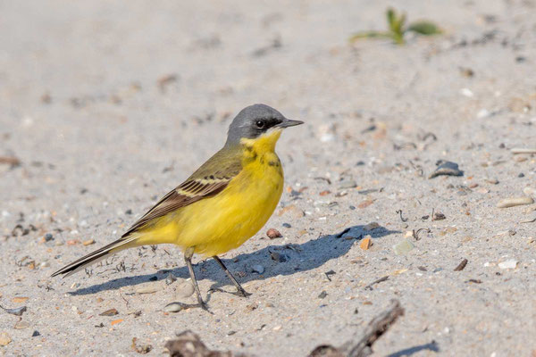
<path id="1" fill-rule="evenodd" d="M 244 244 L 272 216 L 283 191 L 283 169 L 275 145 L 283 129 L 303 124 L 265 104 L 242 109 L 231 121 L 222 149 L 188 179 L 164 195 L 122 236 L 52 274 L 63 278 L 115 253 L 141 245 L 178 245 L 197 295 L 208 310 L 192 267 L 194 254 L 214 258 L 236 295 L 249 293 L 218 257 Z"/>

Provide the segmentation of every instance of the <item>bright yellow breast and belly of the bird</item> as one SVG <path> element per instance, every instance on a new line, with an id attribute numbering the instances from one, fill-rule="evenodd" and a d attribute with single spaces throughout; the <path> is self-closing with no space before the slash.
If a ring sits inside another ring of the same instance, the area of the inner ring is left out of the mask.
<path id="1" fill-rule="evenodd" d="M 213 256 L 242 245 L 263 228 L 281 198 L 283 171 L 275 153 L 248 162 L 229 186 L 155 220 L 136 245 L 171 243 Z"/>

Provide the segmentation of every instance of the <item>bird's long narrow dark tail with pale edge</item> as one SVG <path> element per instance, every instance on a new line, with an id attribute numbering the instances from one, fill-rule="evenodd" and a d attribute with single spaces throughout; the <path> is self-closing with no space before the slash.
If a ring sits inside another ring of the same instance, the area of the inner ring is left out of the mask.
<path id="1" fill-rule="evenodd" d="M 64 274 L 63 278 L 67 278 L 70 275 L 76 273 L 77 271 L 80 271 L 88 267 L 89 265 L 95 264 L 96 262 L 100 262 L 103 259 L 109 257 L 110 255 L 113 255 L 115 253 L 122 251 L 123 249 L 138 246 L 137 240 L 139 237 L 140 235 L 138 234 L 132 234 L 127 237 L 121 237 L 115 242 L 112 242 L 109 245 L 105 245 L 102 248 L 97 249 L 95 252 L 88 253 L 88 255 L 85 255 L 81 257 L 80 259 L 74 262 L 71 262 L 71 264 L 68 264 L 64 266 L 62 269 L 54 272 L 52 276 L 55 277 L 56 275 Z"/>

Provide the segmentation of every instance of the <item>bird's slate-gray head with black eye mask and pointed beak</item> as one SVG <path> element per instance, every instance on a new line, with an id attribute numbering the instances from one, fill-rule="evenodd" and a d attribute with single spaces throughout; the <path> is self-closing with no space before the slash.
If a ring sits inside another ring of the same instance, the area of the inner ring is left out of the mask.
<path id="1" fill-rule="evenodd" d="M 230 123 L 226 145 L 239 144 L 242 137 L 249 139 L 260 137 L 269 129 L 283 129 L 299 124 L 303 124 L 303 121 L 289 120 L 268 105 L 249 105 Z"/>

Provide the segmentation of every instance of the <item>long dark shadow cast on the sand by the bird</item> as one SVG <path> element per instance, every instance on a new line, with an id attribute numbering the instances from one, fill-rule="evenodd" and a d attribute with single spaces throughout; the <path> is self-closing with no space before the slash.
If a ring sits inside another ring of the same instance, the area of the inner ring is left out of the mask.
<path id="1" fill-rule="evenodd" d="M 344 229 L 338 234 L 321 236 L 300 245 L 270 245 L 253 253 L 239 254 L 235 258 L 222 261 L 240 283 L 246 283 L 278 275 L 292 275 L 298 271 L 314 270 L 326 262 L 348 253 L 356 240 L 360 240 L 365 235 L 370 235 L 373 239 L 377 239 L 393 233 L 400 232 L 384 227 L 367 231 L 364 226 L 353 226 Z M 274 242 L 276 241 L 274 240 Z M 257 267 L 255 269 L 255 265 L 262 268 Z M 200 281 L 205 278 L 214 280 L 214 284 L 211 286 L 212 289 L 231 285 L 229 278 L 214 259 L 199 262 L 194 269 L 197 280 Z M 253 270 L 257 270 L 257 272 Z M 259 270 L 264 271 L 260 272 Z M 136 286 L 147 281 L 166 278 L 170 272 L 177 278 L 189 278 L 188 269 L 183 266 L 173 270 L 159 270 L 154 274 L 115 278 L 102 284 L 79 288 L 70 294 L 91 295 L 106 290 L 119 289 L 124 286 Z M 246 274 L 240 274 L 239 272 Z"/>

